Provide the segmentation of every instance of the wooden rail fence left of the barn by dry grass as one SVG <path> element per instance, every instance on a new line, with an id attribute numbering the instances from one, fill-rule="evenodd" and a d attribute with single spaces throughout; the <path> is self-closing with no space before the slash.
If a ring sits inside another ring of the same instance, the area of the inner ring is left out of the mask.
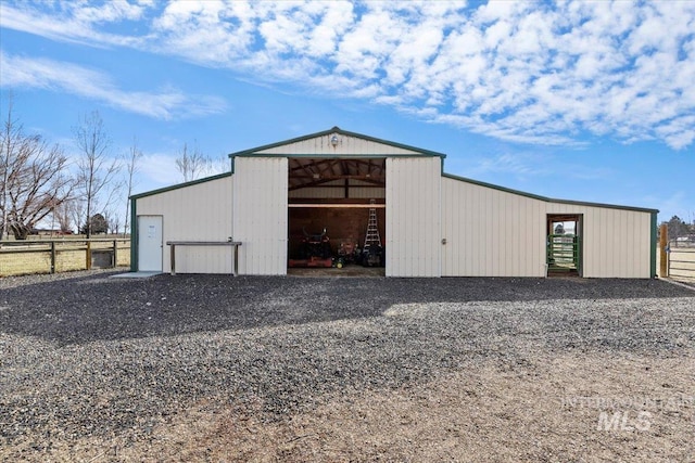
<path id="1" fill-rule="evenodd" d="M 0 276 L 130 266 L 130 239 L 0 242 Z"/>

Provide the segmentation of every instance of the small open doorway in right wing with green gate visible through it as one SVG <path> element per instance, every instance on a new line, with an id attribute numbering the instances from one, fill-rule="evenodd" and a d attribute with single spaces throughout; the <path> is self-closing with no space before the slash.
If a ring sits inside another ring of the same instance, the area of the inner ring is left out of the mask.
<path id="1" fill-rule="evenodd" d="M 581 276 L 581 214 L 548 214 L 546 263 L 548 276 Z"/>

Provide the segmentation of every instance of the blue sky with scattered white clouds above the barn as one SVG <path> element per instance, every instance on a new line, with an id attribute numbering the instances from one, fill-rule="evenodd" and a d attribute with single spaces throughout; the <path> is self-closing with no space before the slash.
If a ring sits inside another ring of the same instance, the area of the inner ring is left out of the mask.
<path id="1" fill-rule="evenodd" d="M 694 31 L 695 1 L 2 0 L 1 108 L 68 154 L 99 111 L 113 156 L 143 152 L 135 192 L 179 182 L 184 143 L 222 158 L 339 126 L 693 221 Z"/>

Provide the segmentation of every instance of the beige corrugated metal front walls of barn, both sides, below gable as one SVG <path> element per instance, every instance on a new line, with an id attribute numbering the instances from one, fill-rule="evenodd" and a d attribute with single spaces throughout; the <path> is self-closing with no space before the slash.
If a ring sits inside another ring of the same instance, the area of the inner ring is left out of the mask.
<path id="1" fill-rule="evenodd" d="M 243 242 L 240 272 L 287 272 L 287 158 L 239 157 L 237 173 L 137 200 L 138 215 L 163 216 L 163 240 Z M 649 278 L 648 211 L 553 203 L 441 177 L 439 158 L 389 158 L 387 274 L 542 276 L 548 214 L 582 215 L 583 276 Z M 338 190 L 340 189 L 326 189 Z M 320 197 L 329 197 L 324 194 Z M 232 214 L 233 208 L 233 214 Z M 233 234 L 232 234 L 233 216 Z M 441 245 L 441 239 L 446 245 Z M 164 270 L 170 269 L 163 249 Z M 227 247 L 181 247 L 181 273 L 229 273 Z"/>

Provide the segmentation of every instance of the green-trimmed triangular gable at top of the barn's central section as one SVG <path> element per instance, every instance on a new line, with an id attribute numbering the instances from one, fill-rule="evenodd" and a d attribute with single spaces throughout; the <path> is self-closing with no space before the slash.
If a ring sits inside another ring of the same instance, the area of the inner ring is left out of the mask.
<path id="1" fill-rule="evenodd" d="M 342 130 L 339 127 L 229 154 L 229 157 L 235 156 L 312 158 L 369 158 L 390 156 L 446 157 L 443 153 L 437 153 L 434 151 L 382 140 L 363 133 L 350 132 L 348 130 Z"/>

